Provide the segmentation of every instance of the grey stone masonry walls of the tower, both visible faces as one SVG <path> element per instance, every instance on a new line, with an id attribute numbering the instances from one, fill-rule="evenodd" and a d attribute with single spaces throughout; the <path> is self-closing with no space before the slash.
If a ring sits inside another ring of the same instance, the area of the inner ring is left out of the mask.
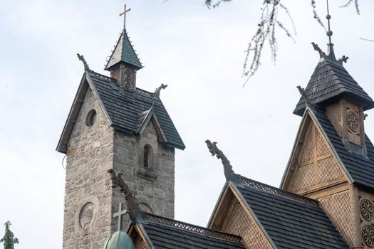
<path id="1" fill-rule="evenodd" d="M 91 110 L 96 118 L 86 124 Z M 151 119 L 152 121 L 152 119 Z M 150 166 L 143 166 L 145 146 Z M 108 169 L 123 172 L 123 179 L 147 212 L 174 217 L 175 149 L 157 142 L 153 122 L 139 136 L 110 127 L 97 97 L 88 88 L 68 142 L 63 248 L 102 248 L 117 230 L 113 214 L 125 198 L 111 188 Z M 127 228 L 125 220 L 123 228 Z"/>

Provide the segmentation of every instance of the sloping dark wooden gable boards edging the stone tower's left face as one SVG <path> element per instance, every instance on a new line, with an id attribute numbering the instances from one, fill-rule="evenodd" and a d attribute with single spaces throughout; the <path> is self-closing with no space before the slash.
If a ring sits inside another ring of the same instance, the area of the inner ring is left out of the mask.
<path id="1" fill-rule="evenodd" d="M 90 88 L 93 91 L 93 95 L 95 95 L 95 97 L 98 99 L 98 102 L 100 102 L 100 107 L 103 109 L 103 112 L 105 113 L 105 117 L 107 117 L 110 124 L 112 124 L 110 117 L 105 110 L 103 102 L 100 100 L 100 97 L 98 97 L 98 92 L 96 91 L 95 86 L 91 82 L 90 77 L 86 71 L 83 74 L 82 79 L 80 80 L 80 84 L 78 87 L 78 91 L 76 93 L 76 97 L 74 97 L 73 105 L 71 105 L 68 118 L 63 127 L 63 132 L 61 133 L 60 139 L 58 140 L 58 144 L 56 148 L 58 152 L 61 152 L 64 154 L 67 153 L 68 141 L 70 139 L 71 132 L 73 132 L 74 126 L 76 125 L 76 121 L 77 121 L 80 109 L 83 106 L 83 101 L 85 98 L 85 94 L 88 91 L 88 88 Z"/>

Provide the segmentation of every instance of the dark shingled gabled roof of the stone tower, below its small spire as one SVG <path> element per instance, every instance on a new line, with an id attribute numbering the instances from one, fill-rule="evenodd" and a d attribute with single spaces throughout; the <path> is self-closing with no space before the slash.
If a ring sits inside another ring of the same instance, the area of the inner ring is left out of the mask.
<path id="1" fill-rule="evenodd" d="M 74 120 L 78 117 L 82 105 L 79 99 L 84 97 L 88 85 L 97 93 L 99 102 L 102 104 L 103 110 L 113 128 L 128 134 L 139 134 L 141 132 L 140 125 L 144 124 L 144 118 L 149 116 L 145 114 L 151 112 L 155 120 L 157 120 L 157 124 L 160 124 L 162 136 L 165 136 L 165 141 L 163 141 L 165 145 L 177 149 L 185 149 L 185 144 L 160 97 L 140 88 L 136 88 L 135 91 L 120 90 L 115 79 L 95 73 L 93 70 L 86 70 L 80 83 L 76 100 L 74 100 L 73 107 L 58 142 L 58 152 L 66 153 L 68 138 L 73 131 Z"/>

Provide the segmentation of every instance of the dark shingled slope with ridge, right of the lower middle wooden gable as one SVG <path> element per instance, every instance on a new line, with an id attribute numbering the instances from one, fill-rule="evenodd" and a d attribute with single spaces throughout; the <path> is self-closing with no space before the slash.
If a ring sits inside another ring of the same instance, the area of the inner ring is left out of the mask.
<path id="1" fill-rule="evenodd" d="M 318 201 L 244 176 L 232 184 L 276 248 L 349 248 Z"/>

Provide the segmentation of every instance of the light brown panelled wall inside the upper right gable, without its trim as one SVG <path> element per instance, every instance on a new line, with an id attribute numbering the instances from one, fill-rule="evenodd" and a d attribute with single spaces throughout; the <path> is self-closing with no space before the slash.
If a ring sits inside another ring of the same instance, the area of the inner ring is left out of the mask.
<path id="1" fill-rule="evenodd" d="M 309 124 L 303 141 L 289 191 L 308 194 L 346 181 L 338 160 L 313 122 Z"/>

